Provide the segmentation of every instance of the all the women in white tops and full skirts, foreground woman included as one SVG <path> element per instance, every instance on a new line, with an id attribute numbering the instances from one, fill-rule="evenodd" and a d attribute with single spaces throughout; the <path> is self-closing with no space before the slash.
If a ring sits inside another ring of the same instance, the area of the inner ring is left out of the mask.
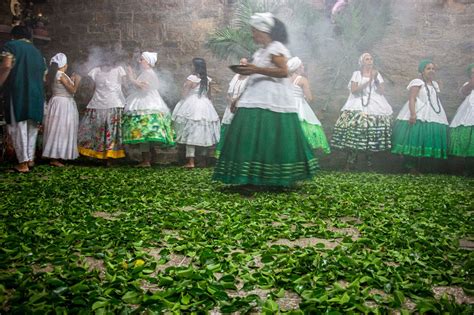
<path id="1" fill-rule="evenodd" d="M 51 97 L 44 117 L 43 156 L 54 166 L 79 154 L 109 161 L 125 157 L 127 146 L 141 152 L 138 166 L 150 167 L 153 145 L 178 143 L 186 147 L 184 166 L 193 168 L 197 147 L 205 155 L 216 146 L 215 180 L 288 186 L 311 178 L 318 168 L 315 150 L 329 154 L 330 145 L 308 104 L 312 93 L 304 66 L 285 47 L 288 36 L 279 19 L 257 13 L 250 24 L 261 48 L 251 62 L 242 58 L 233 67 L 237 74 L 229 84 L 222 123 L 211 102 L 212 79 L 202 58 L 192 60 L 193 73 L 173 112 L 158 92 L 157 53 L 141 54 L 138 74 L 131 67 L 107 63 L 93 68 L 88 76 L 95 83 L 94 95 L 79 121 L 73 96 L 81 78 L 69 77 L 66 56 L 55 55 L 47 74 Z M 359 65 L 330 142 L 331 148 L 347 152 L 347 169 L 353 168 L 359 153 L 370 166 L 374 152 L 390 150 L 405 156 L 410 171 L 416 171 L 420 158 L 474 157 L 474 64 L 468 66 L 461 89 L 465 100 L 449 124 L 434 80 L 435 66 L 422 60 L 420 77 L 408 84 L 408 101 L 393 126 L 392 107 L 372 55 L 362 54 Z M 122 93 L 125 81 L 133 86 L 127 97 Z"/>

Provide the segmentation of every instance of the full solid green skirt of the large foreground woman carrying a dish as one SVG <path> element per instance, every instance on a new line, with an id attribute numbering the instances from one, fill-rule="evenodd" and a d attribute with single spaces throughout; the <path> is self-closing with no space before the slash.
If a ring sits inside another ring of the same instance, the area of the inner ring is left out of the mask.
<path id="1" fill-rule="evenodd" d="M 296 113 L 239 108 L 222 141 L 213 179 L 226 184 L 291 186 L 318 169 Z"/>

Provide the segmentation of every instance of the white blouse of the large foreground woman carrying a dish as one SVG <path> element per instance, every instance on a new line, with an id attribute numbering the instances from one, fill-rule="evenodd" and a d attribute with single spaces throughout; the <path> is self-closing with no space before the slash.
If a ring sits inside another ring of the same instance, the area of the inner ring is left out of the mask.
<path id="1" fill-rule="evenodd" d="M 290 57 L 289 50 L 280 42 L 271 42 L 253 55 L 257 67 L 275 68 L 272 56 Z M 268 109 L 278 113 L 296 113 L 296 102 L 289 78 L 274 78 L 262 74 L 249 76 L 247 87 L 237 107 Z"/>

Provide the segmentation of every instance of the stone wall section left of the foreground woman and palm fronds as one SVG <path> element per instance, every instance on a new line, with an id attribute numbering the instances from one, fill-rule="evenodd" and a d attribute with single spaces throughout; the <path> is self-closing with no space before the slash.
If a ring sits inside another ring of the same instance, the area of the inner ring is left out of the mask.
<path id="1" fill-rule="evenodd" d="M 215 94 L 221 102 L 218 88 L 220 78 L 227 80 L 221 71 L 225 65 L 202 44 L 207 34 L 225 20 L 227 1 L 50 0 L 43 5 L 43 11 L 53 20 L 48 26 L 52 40 L 43 46 L 47 58 L 62 51 L 73 66 L 79 67 L 95 48 L 122 49 L 129 61 L 140 51 L 157 51 L 158 67 L 169 81 L 167 101 L 173 107 L 190 74 L 191 59 L 203 57 L 208 62 L 209 75 L 216 79 Z"/>

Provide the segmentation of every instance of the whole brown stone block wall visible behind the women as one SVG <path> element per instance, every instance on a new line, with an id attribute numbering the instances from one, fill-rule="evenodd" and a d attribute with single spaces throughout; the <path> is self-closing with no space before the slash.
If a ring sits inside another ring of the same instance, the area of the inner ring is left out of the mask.
<path id="1" fill-rule="evenodd" d="M 38 8 L 50 18 L 51 41 L 41 43 L 40 47 L 46 58 L 61 51 L 68 55 L 70 63 L 77 65 L 87 60 L 92 47 L 121 47 L 130 58 L 138 51 L 158 51 L 159 69 L 167 74 L 169 85 L 174 87 L 166 99 L 170 107 L 174 107 L 179 99 L 180 87 L 191 71 L 191 59 L 204 57 L 208 61 L 208 73 L 215 83 L 214 103 L 222 114 L 224 95 L 232 73 L 227 62 L 214 58 L 204 49 L 203 43 L 207 34 L 226 25 L 232 16 L 231 4 L 234 2 L 48 0 Z M 323 0 L 309 2 L 314 4 L 315 10 L 324 7 Z M 458 6 L 446 6 L 449 2 L 452 1 L 392 1 L 393 18 L 386 36 L 375 45 L 373 53 L 386 79 L 386 96 L 395 113 L 407 99 L 408 82 L 418 75 L 418 61 L 425 57 L 433 58 L 438 66 L 442 102 L 450 119 L 462 101 L 458 90 L 466 80 L 464 69 L 474 62 L 474 4 L 470 0 L 457 0 Z M 9 19 L 8 13 L 2 10 L 0 20 Z M 348 91 L 345 84 L 332 89 L 328 78 L 323 77 L 330 69 L 318 67 L 317 60 L 306 62 L 317 97 L 313 106 L 330 135 Z M 348 78 L 353 70 L 348 69 Z M 331 103 L 322 112 L 321 104 L 329 94 L 333 96 Z M 323 159 L 322 164 L 338 168 L 342 160 L 342 155 L 335 154 L 330 159 Z M 381 168 L 391 164 L 388 168 L 396 169 L 393 165 L 399 165 L 398 160 L 389 154 L 382 160 Z"/>

